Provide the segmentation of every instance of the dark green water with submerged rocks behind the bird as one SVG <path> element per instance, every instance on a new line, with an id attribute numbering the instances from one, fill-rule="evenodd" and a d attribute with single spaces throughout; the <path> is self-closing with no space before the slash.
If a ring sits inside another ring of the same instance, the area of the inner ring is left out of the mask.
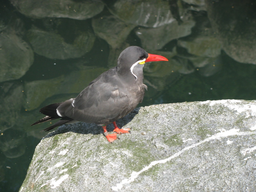
<path id="1" fill-rule="evenodd" d="M 253 1 L 12 2 L 0 3 L 0 191 L 19 190 L 47 134 L 49 122 L 30 127 L 39 109 L 76 97 L 130 45 L 169 59 L 145 64 L 139 106 L 255 99 Z"/>

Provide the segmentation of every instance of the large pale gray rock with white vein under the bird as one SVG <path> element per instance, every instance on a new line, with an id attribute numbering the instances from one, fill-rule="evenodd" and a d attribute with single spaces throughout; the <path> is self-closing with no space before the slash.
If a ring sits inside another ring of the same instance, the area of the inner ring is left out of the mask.
<path id="1" fill-rule="evenodd" d="M 99 126 L 63 125 L 19 191 L 255 191 L 255 116 L 255 100 L 151 105 L 117 122 L 132 133 L 113 144 Z"/>

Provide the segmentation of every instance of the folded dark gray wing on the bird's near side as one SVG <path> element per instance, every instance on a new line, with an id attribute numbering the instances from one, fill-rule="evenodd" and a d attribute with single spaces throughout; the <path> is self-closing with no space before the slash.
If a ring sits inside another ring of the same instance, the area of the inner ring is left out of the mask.
<path id="1" fill-rule="evenodd" d="M 85 88 L 66 109 L 71 119 L 93 123 L 104 119 L 119 119 L 130 112 L 129 95 L 118 83 L 116 73 L 111 69 Z"/>

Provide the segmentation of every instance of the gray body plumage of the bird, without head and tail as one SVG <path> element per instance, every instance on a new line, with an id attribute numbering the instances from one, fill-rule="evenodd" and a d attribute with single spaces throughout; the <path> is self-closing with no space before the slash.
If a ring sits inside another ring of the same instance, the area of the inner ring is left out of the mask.
<path id="1" fill-rule="evenodd" d="M 142 101 L 146 85 L 142 83 L 143 75 L 139 77 L 135 82 L 133 76 L 129 80 L 132 83 L 127 83 L 127 78 L 119 76 L 114 67 L 93 80 L 72 103 L 67 100 L 57 110 L 77 121 L 109 124 L 130 113 Z"/>

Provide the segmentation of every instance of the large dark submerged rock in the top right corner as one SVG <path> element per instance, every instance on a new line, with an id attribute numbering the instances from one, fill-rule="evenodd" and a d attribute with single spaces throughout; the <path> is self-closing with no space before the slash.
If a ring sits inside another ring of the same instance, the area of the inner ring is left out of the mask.
<path id="1" fill-rule="evenodd" d="M 205 3 L 223 50 L 238 62 L 256 64 L 255 1 L 206 0 Z"/>

